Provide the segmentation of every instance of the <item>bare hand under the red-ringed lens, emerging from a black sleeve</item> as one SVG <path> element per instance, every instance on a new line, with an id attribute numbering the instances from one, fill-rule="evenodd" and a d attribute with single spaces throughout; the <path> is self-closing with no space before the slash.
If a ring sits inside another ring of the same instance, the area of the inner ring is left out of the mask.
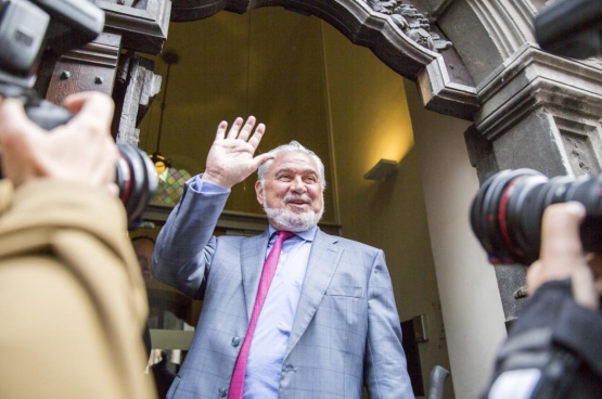
<path id="1" fill-rule="evenodd" d="M 585 215 L 584 206 L 576 202 L 546 208 L 540 258 L 527 272 L 530 295 L 548 281 L 571 278 L 575 300 L 581 306 L 598 309 L 602 292 L 602 262 L 599 256 L 586 257 L 582 254 L 579 226 Z"/>

